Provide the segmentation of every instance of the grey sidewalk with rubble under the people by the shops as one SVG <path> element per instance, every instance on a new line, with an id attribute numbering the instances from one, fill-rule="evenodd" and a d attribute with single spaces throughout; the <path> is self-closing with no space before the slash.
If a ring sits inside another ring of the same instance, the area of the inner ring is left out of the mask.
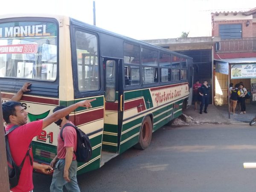
<path id="1" fill-rule="evenodd" d="M 239 123 L 250 122 L 256 116 L 256 105 L 246 105 L 246 114 L 239 114 L 240 111 L 236 111 L 235 115 L 230 115 L 228 119 L 228 106 L 215 106 L 209 105 L 207 108 L 208 113 L 200 114 L 199 110 L 194 110 L 195 105 L 188 106 L 183 110 L 183 113 L 187 116 L 191 116 L 194 122 L 198 123 Z M 198 109 L 200 107 L 198 106 Z"/>

